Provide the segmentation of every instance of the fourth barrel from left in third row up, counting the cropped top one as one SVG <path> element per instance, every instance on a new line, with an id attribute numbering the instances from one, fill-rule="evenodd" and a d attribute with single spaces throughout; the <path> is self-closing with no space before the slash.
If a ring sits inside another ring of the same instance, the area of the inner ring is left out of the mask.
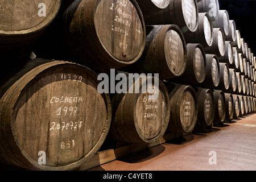
<path id="1" fill-rule="evenodd" d="M 205 53 L 218 57 L 225 55 L 225 39 L 221 28 L 213 28 L 213 43 L 212 46 L 205 48 Z"/>

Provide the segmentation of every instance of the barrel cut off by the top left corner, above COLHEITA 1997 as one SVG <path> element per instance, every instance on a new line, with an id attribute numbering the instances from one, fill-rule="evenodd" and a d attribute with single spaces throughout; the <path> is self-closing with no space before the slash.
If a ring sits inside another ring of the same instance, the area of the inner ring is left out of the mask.
<path id="1" fill-rule="evenodd" d="M 28 57 L 60 9 L 61 0 L 1 1 L 0 54 Z"/>

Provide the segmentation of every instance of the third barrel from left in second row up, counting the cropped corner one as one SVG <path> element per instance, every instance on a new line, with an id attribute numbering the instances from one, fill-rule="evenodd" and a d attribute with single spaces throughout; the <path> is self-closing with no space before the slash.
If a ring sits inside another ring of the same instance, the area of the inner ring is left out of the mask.
<path id="1" fill-rule="evenodd" d="M 159 78 L 181 76 L 187 65 L 187 46 L 176 25 L 147 26 L 146 46 L 141 58 L 127 72 L 159 73 Z"/>

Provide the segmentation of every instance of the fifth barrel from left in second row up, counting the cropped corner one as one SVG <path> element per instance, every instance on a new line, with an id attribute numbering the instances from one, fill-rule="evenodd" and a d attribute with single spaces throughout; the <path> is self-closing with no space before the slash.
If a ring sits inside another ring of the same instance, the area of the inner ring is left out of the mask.
<path id="1" fill-rule="evenodd" d="M 206 55 L 206 76 L 199 86 L 203 88 L 215 88 L 220 84 L 220 63 L 216 55 Z"/>

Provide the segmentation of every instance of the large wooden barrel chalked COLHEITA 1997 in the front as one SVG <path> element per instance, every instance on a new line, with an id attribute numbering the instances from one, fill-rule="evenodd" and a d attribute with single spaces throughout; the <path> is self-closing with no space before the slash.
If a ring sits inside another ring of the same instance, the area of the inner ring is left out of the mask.
<path id="1" fill-rule="evenodd" d="M 32 60 L 14 75 L 1 87 L 0 160 L 43 170 L 70 170 L 89 160 L 112 117 L 96 73 L 69 62 Z"/>

